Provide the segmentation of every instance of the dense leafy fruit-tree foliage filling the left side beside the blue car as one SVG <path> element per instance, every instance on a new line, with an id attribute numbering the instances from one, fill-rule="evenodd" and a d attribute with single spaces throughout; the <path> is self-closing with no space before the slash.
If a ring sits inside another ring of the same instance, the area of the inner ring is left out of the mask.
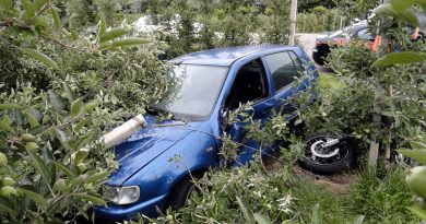
<path id="1" fill-rule="evenodd" d="M 164 45 L 104 19 L 82 37 L 51 1 L 0 3 L 0 222 L 88 219 L 118 167 L 93 142 L 167 92 Z"/>

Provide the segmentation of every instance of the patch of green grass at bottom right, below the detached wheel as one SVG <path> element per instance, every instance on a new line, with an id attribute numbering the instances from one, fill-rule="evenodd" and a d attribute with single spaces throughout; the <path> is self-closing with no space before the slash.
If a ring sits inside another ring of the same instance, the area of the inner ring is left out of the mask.
<path id="1" fill-rule="evenodd" d="M 291 192 L 297 198 L 294 211 L 303 223 L 310 223 L 312 208 L 320 205 L 322 223 L 354 223 L 364 215 L 364 224 L 415 224 L 415 219 L 407 210 L 413 194 L 404 181 L 404 172 L 395 167 L 382 178 L 369 172 L 354 175 L 356 181 L 347 192 L 336 194 L 327 187 L 313 184 L 304 177 L 296 177 Z"/>

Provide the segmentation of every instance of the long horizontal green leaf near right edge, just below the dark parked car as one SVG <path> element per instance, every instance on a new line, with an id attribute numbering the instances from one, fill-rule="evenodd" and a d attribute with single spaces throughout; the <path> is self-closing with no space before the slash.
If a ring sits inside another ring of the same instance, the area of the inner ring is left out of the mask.
<path id="1" fill-rule="evenodd" d="M 425 58 L 418 52 L 391 52 L 371 64 L 371 68 L 388 67 L 393 64 L 406 64 L 423 62 Z"/>

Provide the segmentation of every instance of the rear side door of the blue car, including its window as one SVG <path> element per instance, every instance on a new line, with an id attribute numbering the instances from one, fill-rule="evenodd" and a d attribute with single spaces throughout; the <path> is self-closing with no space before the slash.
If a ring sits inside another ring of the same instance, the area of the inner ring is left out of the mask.
<path id="1" fill-rule="evenodd" d="M 292 97 L 303 91 L 296 79 L 307 75 L 300 59 L 293 51 L 282 51 L 264 56 L 265 68 L 272 76 L 276 111 L 292 115 L 299 105 Z M 297 86 L 296 86 L 297 85 Z"/>

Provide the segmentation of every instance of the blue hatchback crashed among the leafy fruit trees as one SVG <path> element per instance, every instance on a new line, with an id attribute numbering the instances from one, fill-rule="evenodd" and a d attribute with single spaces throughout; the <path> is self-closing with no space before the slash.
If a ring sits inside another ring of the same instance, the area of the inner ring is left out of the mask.
<path id="1" fill-rule="evenodd" d="M 131 220 L 139 213 L 156 216 L 156 208 L 184 207 L 194 189 L 189 172 L 200 177 L 221 163 L 224 117 L 230 110 L 252 102 L 255 119 L 265 120 L 282 108 L 291 114 L 295 108 L 286 99 L 318 78 L 301 48 L 279 45 L 211 49 L 170 62 L 173 94 L 153 109 L 174 117 L 158 120 L 155 113 L 147 113 L 146 127 L 115 148 L 120 166 L 107 182 L 108 207 L 94 208 L 99 223 Z M 295 82 L 297 76 L 308 79 Z M 244 139 L 241 123 L 228 132 L 236 141 Z M 250 144 L 241 149 L 238 164 L 253 158 L 252 148 L 258 145 Z"/>

